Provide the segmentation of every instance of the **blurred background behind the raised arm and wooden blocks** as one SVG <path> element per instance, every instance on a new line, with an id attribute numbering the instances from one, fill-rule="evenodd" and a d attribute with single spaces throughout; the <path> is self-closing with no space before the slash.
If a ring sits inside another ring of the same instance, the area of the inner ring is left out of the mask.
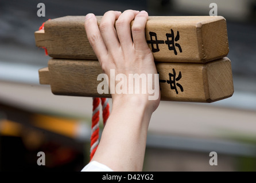
<path id="1" fill-rule="evenodd" d="M 37 4 L 45 17 L 37 17 Z M 38 69 L 49 56 L 34 31 L 49 18 L 146 10 L 149 15 L 209 15 L 227 19 L 234 95 L 212 104 L 164 102 L 150 121 L 145 171 L 256 170 L 256 1 L 254 0 L 1 0 L 0 170 L 80 171 L 89 161 L 92 98 L 54 96 Z M 111 100 L 110 100 L 111 103 Z M 37 153 L 45 153 L 45 166 Z M 218 165 L 209 164 L 210 152 Z"/>

